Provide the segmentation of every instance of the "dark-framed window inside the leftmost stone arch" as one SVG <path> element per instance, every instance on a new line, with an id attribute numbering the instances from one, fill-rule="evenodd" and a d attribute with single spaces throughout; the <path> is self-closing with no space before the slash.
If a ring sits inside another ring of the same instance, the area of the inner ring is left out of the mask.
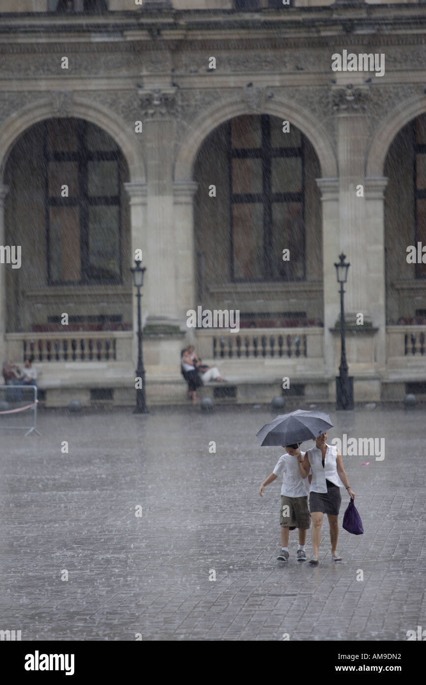
<path id="1" fill-rule="evenodd" d="M 121 282 L 120 151 L 82 119 L 44 122 L 49 285 Z"/>

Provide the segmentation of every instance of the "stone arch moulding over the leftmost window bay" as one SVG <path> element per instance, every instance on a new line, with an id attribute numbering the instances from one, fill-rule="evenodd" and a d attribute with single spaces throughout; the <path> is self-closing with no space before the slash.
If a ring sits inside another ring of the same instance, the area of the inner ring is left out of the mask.
<path id="1" fill-rule="evenodd" d="M 135 139 L 127 134 L 127 124 L 122 121 L 120 116 L 98 103 L 68 96 L 72 96 L 72 93 L 64 94 L 62 106 L 59 103 L 58 107 L 55 99 L 50 97 L 34 104 L 25 105 L 16 114 L 12 114 L 6 119 L 0 128 L 0 182 L 3 179 L 10 150 L 21 134 L 44 119 L 76 117 L 96 124 L 114 138 L 127 162 L 130 181 L 145 183 L 144 160 L 137 150 Z"/>

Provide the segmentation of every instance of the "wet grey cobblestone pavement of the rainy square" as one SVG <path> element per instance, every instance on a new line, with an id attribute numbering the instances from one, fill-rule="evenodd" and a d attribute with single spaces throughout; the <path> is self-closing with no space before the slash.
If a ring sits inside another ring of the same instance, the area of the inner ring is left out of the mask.
<path id="1" fill-rule="evenodd" d="M 258 495 L 282 453 L 258 447 L 267 408 L 52 410 L 41 437 L 4 429 L 0 629 L 22 640 L 405 640 L 425 629 L 424 410 L 330 415 L 329 442 L 385 438 L 386 452 L 344 458 L 365 533 L 341 529 L 334 564 L 324 523 L 316 568 L 295 561 L 297 531 L 288 566 L 276 560 L 279 480 Z"/>

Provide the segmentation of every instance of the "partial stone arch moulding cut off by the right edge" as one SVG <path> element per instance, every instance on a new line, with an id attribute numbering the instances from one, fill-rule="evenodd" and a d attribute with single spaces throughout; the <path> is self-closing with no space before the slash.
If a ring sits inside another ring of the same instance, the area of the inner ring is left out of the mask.
<path id="1" fill-rule="evenodd" d="M 426 95 L 422 95 L 397 105 L 379 123 L 367 154 L 366 176 L 379 177 L 383 175 L 384 162 L 392 140 L 405 124 L 425 112 Z"/>

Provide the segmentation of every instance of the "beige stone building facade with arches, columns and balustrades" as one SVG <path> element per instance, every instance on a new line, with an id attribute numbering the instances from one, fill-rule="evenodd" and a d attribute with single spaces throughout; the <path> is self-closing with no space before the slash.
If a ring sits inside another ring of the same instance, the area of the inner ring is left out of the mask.
<path id="1" fill-rule="evenodd" d="M 22 254 L 0 358 L 34 358 L 48 405 L 133 402 L 137 249 L 150 403 L 185 401 L 189 341 L 232 401 L 283 377 L 333 401 L 342 251 L 355 399 L 426 393 L 423 3 L 2 0 L 0 20 L 0 243 Z M 188 328 L 198 306 L 240 331 Z"/>

